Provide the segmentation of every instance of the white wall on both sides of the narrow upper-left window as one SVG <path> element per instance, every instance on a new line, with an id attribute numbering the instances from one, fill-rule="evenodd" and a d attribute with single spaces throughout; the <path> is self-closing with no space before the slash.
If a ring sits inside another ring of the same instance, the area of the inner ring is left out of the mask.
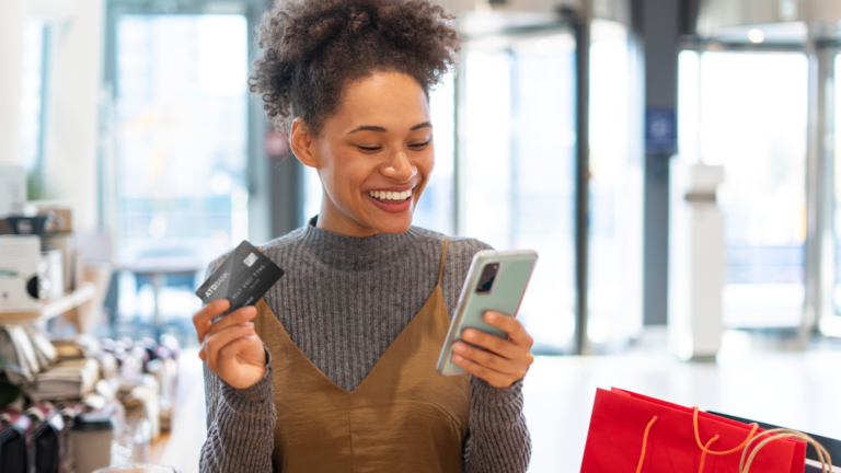
<path id="1" fill-rule="evenodd" d="M 54 25 L 45 165 L 50 197 L 73 206 L 74 227 L 97 223 L 96 134 L 104 0 L 0 0 L 0 162 L 21 162 L 23 31 L 26 19 Z M 72 4 L 72 8 L 68 8 Z M 62 8 L 54 8 L 62 7 Z M 57 14 L 60 10 L 61 14 Z"/>

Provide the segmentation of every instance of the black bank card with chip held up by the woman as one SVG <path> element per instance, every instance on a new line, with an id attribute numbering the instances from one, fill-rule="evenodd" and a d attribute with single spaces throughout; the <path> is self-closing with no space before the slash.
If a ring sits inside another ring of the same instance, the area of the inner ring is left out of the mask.
<path id="1" fill-rule="evenodd" d="M 196 296 L 205 303 L 228 299 L 231 303 L 222 315 L 245 305 L 254 305 L 280 279 L 284 270 L 260 250 L 243 241 L 209 278 Z"/>

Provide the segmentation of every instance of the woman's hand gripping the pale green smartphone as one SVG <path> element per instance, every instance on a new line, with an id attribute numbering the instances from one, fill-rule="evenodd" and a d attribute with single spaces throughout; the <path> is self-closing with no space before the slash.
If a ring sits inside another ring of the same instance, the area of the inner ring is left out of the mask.
<path id="1" fill-rule="evenodd" d="M 531 355 L 534 341 L 515 318 L 488 311 L 485 312 L 485 322 L 504 330 L 508 338 L 468 328 L 462 334 L 464 339 L 486 349 L 456 342 L 452 361 L 494 388 L 510 388 L 526 377 L 526 371 L 534 361 Z"/>

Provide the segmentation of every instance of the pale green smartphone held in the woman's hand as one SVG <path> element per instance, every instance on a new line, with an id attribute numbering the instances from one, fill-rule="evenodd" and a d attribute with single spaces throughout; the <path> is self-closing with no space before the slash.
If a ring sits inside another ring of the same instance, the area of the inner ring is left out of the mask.
<path id="1" fill-rule="evenodd" d="M 465 372 L 452 362 L 452 345 L 459 341 L 464 342 L 462 333 L 465 330 L 475 328 L 503 338 L 508 336 L 505 331 L 485 322 L 485 312 L 496 311 L 516 316 L 537 262 L 538 253 L 531 250 L 485 250 L 473 256 L 438 358 L 437 370 L 440 374 Z"/>

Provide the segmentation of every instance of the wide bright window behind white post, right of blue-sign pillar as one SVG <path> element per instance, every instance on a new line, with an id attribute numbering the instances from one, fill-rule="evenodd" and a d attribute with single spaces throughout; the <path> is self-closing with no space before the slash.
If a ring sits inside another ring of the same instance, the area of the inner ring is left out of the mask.
<path id="1" fill-rule="evenodd" d="M 728 327 L 800 324 L 807 73 L 803 54 L 710 51 L 700 61 L 681 55 L 680 108 L 698 113 L 681 119 L 681 152 L 725 169 L 718 205 Z M 696 146 L 687 142 L 691 136 Z"/>

